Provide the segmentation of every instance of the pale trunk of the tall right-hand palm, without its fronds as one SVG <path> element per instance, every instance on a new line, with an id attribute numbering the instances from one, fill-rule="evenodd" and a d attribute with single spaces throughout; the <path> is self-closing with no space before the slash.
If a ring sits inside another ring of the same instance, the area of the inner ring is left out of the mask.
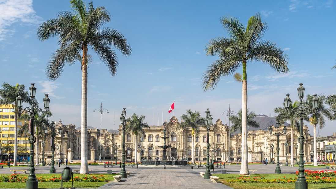
<path id="1" fill-rule="evenodd" d="M 248 152 L 247 152 L 247 74 L 246 61 L 243 61 L 243 86 L 242 86 L 242 165 L 240 175 L 248 175 Z"/>

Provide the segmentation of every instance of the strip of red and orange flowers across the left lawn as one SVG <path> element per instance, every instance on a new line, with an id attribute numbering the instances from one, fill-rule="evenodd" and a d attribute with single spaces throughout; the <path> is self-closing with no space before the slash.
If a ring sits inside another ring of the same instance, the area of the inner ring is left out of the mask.
<path id="1" fill-rule="evenodd" d="M 26 182 L 27 177 L 18 177 L 19 174 L 11 174 L 10 176 L 0 176 L 0 182 Z M 37 177 L 39 182 L 61 182 L 61 177 L 52 176 L 47 177 Z M 71 182 L 70 180 L 69 182 Z M 85 175 L 83 177 L 76 176 L 74 181 L 82 182 L 107 182 L 107 179 L 103 175 L 94 176 L 94 175 Z"/>

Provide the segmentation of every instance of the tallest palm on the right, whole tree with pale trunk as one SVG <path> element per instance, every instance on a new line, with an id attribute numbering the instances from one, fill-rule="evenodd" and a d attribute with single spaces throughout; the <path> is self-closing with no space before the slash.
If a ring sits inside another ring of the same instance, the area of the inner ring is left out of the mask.
<path id="1" fill-rule="evenodd" d="M 242 165 L 241 175 L 249 174 L 247 153 L 247 63 L 260 61 L 268 64 L 278 73 L 287 73 L 287 56 L 275 43 L 262 41 L 267 24 L 261 21 L 260 14 L 251 16 L 246 29 L 237 18 L 220 19 L 229 37 L 212 39 L 205 51 L 207 55 L 218 55 L 203 75 L 203 89 L 214 89 L 221 76 L 228 76 L 242 66 Z"/>

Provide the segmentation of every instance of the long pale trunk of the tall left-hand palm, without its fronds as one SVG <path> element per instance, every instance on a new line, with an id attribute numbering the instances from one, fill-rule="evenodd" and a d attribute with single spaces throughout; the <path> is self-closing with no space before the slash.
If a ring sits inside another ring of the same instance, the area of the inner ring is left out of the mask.
<path id="1" fill-rule="evenodd" d="M 87 164 L 87 46 L 83 45 L 82 60 L 82 120 L 81 120 L 81 170 L 80 174 L 88 174 Z"/>

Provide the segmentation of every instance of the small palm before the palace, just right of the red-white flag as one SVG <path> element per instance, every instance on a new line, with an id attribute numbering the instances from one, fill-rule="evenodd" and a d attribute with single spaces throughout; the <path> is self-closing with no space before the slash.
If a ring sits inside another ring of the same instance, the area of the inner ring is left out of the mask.
<path id="1" fill-rule="evenodd" d="M 182 128 L 191 127 L 192 130 L 192 162 L 195 164 L 195 136 L 200 133 L 200 126 L 205 125 L 205 118 L 201 117 L 201 113 L 198 111 L 187 110 L 186 114 L 181 115 L 180 124 Z"/>

